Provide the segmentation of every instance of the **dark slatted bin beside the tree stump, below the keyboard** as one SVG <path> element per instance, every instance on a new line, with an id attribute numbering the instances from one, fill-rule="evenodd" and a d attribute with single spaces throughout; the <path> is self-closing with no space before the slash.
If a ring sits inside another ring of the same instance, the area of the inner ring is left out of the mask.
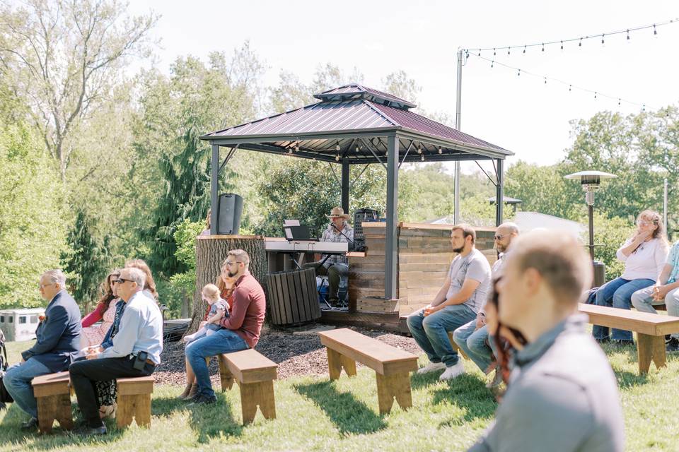
<path id="1" fill-rule="evenodd" d="M 320 319 L 313 268 L 267 275 L 269 314 L 274 326 L 296 326 Z"/>

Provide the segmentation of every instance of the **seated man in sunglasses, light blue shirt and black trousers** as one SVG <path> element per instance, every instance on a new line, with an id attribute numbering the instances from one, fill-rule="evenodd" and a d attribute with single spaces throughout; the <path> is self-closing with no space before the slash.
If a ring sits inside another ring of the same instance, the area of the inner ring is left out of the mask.
<path id="1" fill-rule="evenodd" d="M 143 292 L 146 274 L 139 268 L 123 268 L 113 283 L 126 306 L 112 347 L 92 350 L 87 359 L 69 367 L 71 384 L 86 421 L 81 433 L 86 435 L 106 433 L 94 381 L 148 376 L 161 363 L 163 318 L 156 301 Z"/>

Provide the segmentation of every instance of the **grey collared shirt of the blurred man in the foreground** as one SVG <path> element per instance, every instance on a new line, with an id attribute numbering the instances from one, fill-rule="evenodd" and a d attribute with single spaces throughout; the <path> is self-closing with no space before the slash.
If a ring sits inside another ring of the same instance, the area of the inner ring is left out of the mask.
<path id="1" fill-rule="evenodd" d="M 586 322 L 569 316 L 516 353 L 495 422 L 469 451 L 623 450 L 617 381 Z"/>

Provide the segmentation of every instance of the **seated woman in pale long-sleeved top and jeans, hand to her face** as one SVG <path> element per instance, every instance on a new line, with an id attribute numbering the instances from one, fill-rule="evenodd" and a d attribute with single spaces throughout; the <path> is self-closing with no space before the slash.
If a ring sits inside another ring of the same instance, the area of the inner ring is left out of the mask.
<path id="1" fill-rule="evenodd" d="M 619 278 L 599 287 L 596 292 L 596 304 L 629 309 L 632 306 L 634 292 L 656 283 L 665 266 L 668 248 L 660 214 L 654 210 L 639 213 L 637 230 L 617 250 L 617 258 L 625 262 L 625 271 Z M 613 333 L 609 336 L 608 327 L 595 325 L 592 332 L 599 342 L 613 340 L 618 344 L 634 343 L 631 331 L 613 328 Z"/>

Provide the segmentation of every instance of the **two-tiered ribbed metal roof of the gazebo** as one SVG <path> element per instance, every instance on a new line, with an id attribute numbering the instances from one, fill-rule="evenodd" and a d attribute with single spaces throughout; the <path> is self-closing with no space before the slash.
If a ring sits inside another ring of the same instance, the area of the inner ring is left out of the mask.
<path id="1" fill-rule="evenodd" d="M 351 84 L 316 94 L 320 102 L 200 137 L 214 145 L 291 154 L 349 165 L 383 162 L 386 137 L 397 136 L 401 162 L 504 159 L 497 145 L 410 109 L 414 104 Z"/>

